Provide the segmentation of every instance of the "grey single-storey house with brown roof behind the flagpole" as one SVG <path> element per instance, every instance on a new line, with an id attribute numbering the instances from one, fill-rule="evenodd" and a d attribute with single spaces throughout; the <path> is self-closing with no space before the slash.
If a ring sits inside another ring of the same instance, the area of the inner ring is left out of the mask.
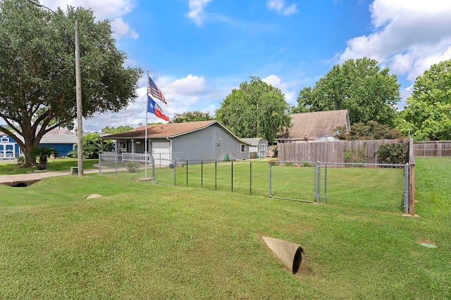
<path id="1" fill-rule="evenodd" d="M 118 153 L 144 153 L 146 126 L 102 136 L 115 140 Z M 170 160 L 248 159 L 249 143 L 237 138 L 216 120 L 147 126 L 147 152 L 160 164 Z"/>

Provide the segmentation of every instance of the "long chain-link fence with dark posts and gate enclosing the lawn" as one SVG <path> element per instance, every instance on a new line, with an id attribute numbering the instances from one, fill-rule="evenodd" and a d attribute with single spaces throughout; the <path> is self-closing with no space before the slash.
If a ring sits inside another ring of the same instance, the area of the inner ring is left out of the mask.
<path id="1" fill-rule="evenodd" d="M 327 203 L 351 209 L 409 211 L 409 164 L 231 162 L 100 155 L 99 172 L 206 190 L 281 200 Z"/>

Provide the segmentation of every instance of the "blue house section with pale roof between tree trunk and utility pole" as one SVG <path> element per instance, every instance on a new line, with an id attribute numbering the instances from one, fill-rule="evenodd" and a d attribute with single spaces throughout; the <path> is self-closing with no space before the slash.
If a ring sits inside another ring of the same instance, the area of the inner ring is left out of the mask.
<path id="1" fill-rule="evenodd" d="M 42 136 L 39 147 L 53 147 L 60 157 L 75 149 L 77 136 L 66 129 L 52 129 Z"/>

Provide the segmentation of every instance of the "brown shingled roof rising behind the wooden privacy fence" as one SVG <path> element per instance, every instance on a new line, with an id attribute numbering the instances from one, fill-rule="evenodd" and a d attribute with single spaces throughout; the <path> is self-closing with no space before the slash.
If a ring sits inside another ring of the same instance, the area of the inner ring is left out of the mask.
<path id="1" fill-rule="evenodd" d="M 278 143 L 312 141 L 321 136 L 336 136 L 337 127 L 351 130 L 347 110 L 328 110 L 323 112 L 303 112 L 291 115 L 292 126 L 288 134 L 278 137 Z"/>

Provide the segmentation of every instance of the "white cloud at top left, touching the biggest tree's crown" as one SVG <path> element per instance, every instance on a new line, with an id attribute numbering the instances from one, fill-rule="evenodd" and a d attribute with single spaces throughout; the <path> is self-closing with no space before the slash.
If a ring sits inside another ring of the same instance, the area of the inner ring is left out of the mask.
<path id="1" fill-rule="evenodd" d="M 138 35 L 135 30 L 123 22 L 122 17 L 132 11 L 133 0 L 42 0 L 41 4 L 56 10 L 60 7 L 66 11 L 67 6 L 82 6 L 83 8 L 91 8 L 97 20 L 111 20 L 115 39 L 121 37 L 131 37 L 137 39 Z"/>

